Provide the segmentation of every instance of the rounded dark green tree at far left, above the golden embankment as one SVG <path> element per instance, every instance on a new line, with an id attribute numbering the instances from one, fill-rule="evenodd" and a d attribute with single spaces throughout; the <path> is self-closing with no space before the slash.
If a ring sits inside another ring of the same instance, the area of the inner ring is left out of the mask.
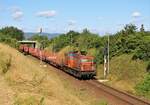
<path id="1" fill-rule="evenodd" d="M 24 39 L 24 33 L 22 30 L 10 26 L 10 27 L 5 27 L 0 29 L 0 33 L 5 37 L 5 38 L 14 38 L 16 40 L 23 40 Z"/>

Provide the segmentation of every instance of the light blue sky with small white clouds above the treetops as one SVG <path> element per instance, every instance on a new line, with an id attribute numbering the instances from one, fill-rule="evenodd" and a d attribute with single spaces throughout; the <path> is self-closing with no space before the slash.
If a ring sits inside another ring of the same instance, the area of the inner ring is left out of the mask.
<path id="1" fill-rule="evenodd" d="M 24 32 L 115 33 L 125 24 L 150 31 L 150 0 L 0 0 L 0 28 Z"/>

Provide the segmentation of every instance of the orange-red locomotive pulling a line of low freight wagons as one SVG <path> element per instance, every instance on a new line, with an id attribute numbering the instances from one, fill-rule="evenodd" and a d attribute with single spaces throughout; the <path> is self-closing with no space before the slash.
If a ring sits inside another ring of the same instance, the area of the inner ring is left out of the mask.
<path id="1" fill-rule="evenodd" d="M 64 54 L 64 59 L 55 53 L 46 50 L 30 47 L 26 44 L 19 46 L 19 51 L 36 57 L 56 68 L 78 79 L 92 79 L 96 76 L 96 63 L 93 56 L 87 56 L 79 51 L 69 51 Z"/>

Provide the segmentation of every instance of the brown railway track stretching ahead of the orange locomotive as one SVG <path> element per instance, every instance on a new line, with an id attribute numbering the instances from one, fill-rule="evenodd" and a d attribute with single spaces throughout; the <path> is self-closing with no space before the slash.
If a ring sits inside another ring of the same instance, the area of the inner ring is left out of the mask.
<path id="1" fill-rule="evenodd" d="M 100 90 L 124 101 L 127 105 L 150 105 L 150 102 L 145 99 L 140 99 L 139 97 L 133 96 L 131 94 L 125 93 L 123 91 L 114 89 L 110 86 L 107 86 L 103 83 L 98 82 L 97 80 L 89 80 L 87 83 L 97 87 Z"/>

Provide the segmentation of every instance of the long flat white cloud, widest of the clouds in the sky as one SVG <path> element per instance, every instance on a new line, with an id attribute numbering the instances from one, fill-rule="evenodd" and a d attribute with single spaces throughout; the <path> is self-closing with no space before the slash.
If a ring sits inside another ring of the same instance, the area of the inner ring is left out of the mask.
<path id="1" fill-rule="evenodd" d="M 36 14 L 39 17 L 50 18 L 56 16 L 55 10 L 40 11 Z"/>

